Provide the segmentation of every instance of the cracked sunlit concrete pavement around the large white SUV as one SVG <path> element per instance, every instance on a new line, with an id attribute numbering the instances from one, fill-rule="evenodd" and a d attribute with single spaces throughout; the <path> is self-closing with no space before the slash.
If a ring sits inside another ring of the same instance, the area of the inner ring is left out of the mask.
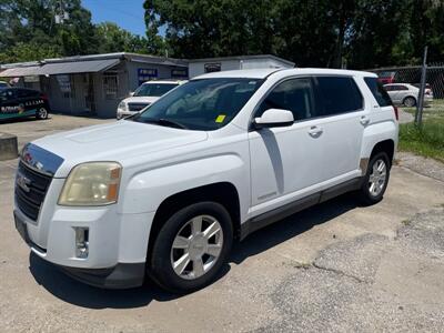
<path id="1" fill-rule="evenodd" d="M 1 131 L 0 125 L 0 131 Z M 394 167 L 363 208 L 345 195 L 238 244 L 220 279 L 178 297 L 93 289 L 20 240 L 17 162 L 0 162 L 0 332 L 442 332 L 444 182 Z"/>

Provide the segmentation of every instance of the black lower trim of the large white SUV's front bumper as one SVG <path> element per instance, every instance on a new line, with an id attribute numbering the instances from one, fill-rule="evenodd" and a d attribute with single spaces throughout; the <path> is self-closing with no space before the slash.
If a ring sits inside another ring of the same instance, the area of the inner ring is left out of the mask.
<path id="1" fill-rule="evenodd" d="M 16 229 L 23 239 L 23 241 L 31 248 L 31 251 L 38 254 L 43 260 L 46 259 L 46 249 L 40 248 L 29 236 L 28 225 L 21 219 L 21 213 L 14 211 L 14 223 Z M 48 260 L 47 260 L 48 261 Z M 49 261 L 48 261 L 49 262 Z M 59 268 L 67 275 L 103 289 L 130 289 L 138 287 L 143 284 L 145 276 L 145 263 L 117 263 L 111 268 L 104 269 L 93 269 L 93 268 L 73 268 L 56 264 L 51 262 L 54 266 Z"/>

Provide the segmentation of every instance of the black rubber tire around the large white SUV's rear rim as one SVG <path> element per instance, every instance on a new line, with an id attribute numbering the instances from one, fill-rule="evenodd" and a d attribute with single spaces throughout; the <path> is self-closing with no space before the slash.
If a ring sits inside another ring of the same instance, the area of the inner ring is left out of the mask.
<path id="1" fill-rule="evenodd" d="M 386 178 L 385 178 L 384 185 L 382 186 L 380 192 L 377 192 L 377 194 L 375 194 L 375 193 L 372 193 L 372 191 L 371 191 L 370 178 L 373 172 L 373 167 L 380 160 L 385 163 Z M 365 173 L 361 189 L 359 191 L 359 196 L 360 196 L 360 200 L 362 203 L 364 203 L 365 205 L 372 205 L 372 204 L 380 202 L 383 199 L 385 190 L 387 189 L 387 184 L 389 184 L 391 167 L 392 167 L 392 163 L 389 159 L 389 155 L 385 152 L 379 152 L 370 159 L 367 172 Z"/>

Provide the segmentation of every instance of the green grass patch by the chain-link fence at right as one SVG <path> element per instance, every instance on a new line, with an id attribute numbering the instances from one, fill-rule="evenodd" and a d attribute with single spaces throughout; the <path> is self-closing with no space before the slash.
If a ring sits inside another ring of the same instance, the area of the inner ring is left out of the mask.
<path id="1" fill-rule="evenodd" d="M 415 112 L 414 108 L 402 110 Z M 434 100 L 424 108 L 422 128 L 414 123 L 400 124 L 398 149 L 444 162 L 444 100 Z"/>

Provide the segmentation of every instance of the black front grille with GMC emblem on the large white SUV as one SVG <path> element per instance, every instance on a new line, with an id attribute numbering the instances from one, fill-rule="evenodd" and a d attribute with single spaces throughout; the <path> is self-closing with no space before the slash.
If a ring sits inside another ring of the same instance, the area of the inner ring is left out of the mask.
<path id="1" fill-rule="evenodd" d="M 20 161 L 16 180 L 16 201 L 23 214 L 33 221 L 39 216 L 51 180 L 51 176 L 30 169 Z"/>

